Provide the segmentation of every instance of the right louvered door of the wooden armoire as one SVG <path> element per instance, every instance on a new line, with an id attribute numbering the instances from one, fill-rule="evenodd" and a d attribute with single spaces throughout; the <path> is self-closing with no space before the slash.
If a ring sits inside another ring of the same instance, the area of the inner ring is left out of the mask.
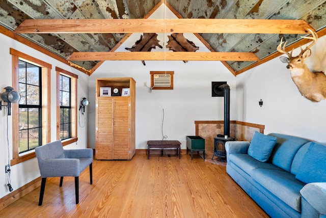
<path id="1" fill-rule="evenodd" d="M 129 98 L 114 100 L 114 159 L 129 159 Z"/>

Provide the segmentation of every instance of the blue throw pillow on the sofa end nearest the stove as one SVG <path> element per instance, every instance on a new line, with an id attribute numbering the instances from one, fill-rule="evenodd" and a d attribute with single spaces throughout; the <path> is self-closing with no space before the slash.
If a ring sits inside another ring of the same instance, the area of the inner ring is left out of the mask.
<path id="1" fill-rule="evenodd" d="M 253 139 L 249 145 L 248 154 L 261 162 L 266 162 L 271 151 L 273 151 L 276 140 L 276 137 L 264 135 L 255 131 Z"/>

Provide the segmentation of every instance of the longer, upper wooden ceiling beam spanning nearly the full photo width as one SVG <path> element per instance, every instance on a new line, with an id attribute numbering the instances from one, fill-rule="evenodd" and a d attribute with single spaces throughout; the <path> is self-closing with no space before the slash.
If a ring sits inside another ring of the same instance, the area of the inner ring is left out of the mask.
<path id="1" fill-rule="evenodd" d="M 264 19 L 35 19 L 15 33 L 248 33 L 307 34 L 304 20 Z"/>

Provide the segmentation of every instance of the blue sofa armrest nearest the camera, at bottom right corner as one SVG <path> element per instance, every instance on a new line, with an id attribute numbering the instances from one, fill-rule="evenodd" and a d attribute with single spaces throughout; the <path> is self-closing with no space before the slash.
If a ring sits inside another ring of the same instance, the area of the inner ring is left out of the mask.
<path id="1" fill-rule="evenodd" d="M 300 193 L 319 213 L 326 214 L 326 182 L 308 183 L 300 190 Z"/>

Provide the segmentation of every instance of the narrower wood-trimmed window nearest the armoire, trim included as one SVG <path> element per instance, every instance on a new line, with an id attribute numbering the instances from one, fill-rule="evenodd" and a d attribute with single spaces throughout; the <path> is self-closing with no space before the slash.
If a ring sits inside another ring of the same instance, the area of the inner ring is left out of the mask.
<path id="1" fill-rule="evenodd" d="M 57 139 L 63 145 L 77 141 L 78 75 L 56 67 L 57 71 Z"/>

